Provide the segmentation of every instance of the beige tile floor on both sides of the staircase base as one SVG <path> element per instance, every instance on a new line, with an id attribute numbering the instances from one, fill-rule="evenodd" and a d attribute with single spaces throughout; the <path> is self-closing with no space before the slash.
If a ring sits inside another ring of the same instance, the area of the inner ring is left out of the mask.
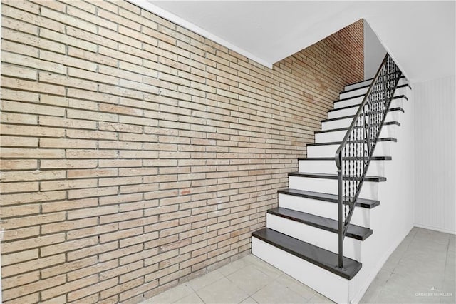
<path id="1" fill-rule="evenodd" d="M 361 303 L 456 303 L 455 235 L 413 228 Z M 159 303 L 332 303 L 280 270 L 247 255 L 145 300 Z"/>

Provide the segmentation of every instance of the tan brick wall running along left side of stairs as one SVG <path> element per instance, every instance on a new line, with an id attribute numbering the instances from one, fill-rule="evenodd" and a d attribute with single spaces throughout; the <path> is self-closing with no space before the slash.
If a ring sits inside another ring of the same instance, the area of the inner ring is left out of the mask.
<path id="1" fill-rule="evenodd" d="M 248 253 L 363 22 L 268 69 L 126 1 L 2 1 L 4 303 L 138 303 Z"/>

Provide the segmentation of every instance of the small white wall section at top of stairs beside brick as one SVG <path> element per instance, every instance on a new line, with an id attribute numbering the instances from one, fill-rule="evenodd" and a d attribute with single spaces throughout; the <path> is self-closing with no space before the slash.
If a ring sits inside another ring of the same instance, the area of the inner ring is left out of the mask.
<path id="1" fill-rule="evenodd" d="M 364 20 L 364 79 L 373 78 L 380 66 L 386 51 L 377 35 Z"/>

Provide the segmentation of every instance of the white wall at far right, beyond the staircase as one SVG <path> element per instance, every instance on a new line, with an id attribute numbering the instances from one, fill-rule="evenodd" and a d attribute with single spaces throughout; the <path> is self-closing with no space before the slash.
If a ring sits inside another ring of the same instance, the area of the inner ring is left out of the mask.
<path id="1" fill-rule="evenodd" d="M 413 84 L 415 226 L 456 233 L 455 76 Z"/>

